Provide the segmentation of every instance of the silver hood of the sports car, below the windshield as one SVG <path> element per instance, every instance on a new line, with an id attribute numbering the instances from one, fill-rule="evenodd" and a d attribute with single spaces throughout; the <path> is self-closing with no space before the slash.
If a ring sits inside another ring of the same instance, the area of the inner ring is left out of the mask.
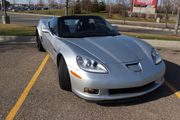
<path id="1" fill-rule="evenodd" d="M 137 40 L 128 36 L 68 38 L 68 42 L 92 54 L 104 63 L 139 61 L 145 53 Z"/>

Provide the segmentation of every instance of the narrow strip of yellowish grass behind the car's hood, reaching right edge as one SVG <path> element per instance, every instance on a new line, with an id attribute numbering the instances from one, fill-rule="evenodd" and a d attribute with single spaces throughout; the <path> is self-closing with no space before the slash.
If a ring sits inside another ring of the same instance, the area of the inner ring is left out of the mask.
<path id="1" fill-rule="evenodd" d="M 122 32 L 122 34 L 131 37 L 141 38 L 141 39 L 180 41 L 180 36 L 174 36 L 174 35 L 140 34 L 140 33 L 131 33 L 131 32 Z"/>

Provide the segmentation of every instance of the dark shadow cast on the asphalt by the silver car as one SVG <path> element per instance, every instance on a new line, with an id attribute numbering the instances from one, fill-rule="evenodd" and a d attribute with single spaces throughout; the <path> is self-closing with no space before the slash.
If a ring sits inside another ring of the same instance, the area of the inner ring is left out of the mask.
<path id="1" fill-rule="evenodd" d="M 172 63 L 168 60 L 164 60 L 166 64 L 166 73 L 165 73 L 165 81 L 170 83 L 176 90 L 180 90 L 180 65 Z M 130 106 L 130 105 L 137 105 L 143 104 L 151 101 L 155 101 L 164 97 L 168 97 L 174 94 L 168 86 L 164 83 L 160 88 L 157 90 L 146 94 L 141 97 L 131 98 L 131 99 L 124 99 L 124 100 L 114 100 L 114 101 L 103 101 L 97 103 L 101 106 L 111 107 L 111 106 Z"/>

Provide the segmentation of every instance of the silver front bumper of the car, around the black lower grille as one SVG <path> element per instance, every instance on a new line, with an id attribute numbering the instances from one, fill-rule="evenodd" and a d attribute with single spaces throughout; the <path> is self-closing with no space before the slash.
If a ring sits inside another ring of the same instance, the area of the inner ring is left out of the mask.
<path id="1" fill-rule="evenodd" d="M 144 71 L 142 73 L 130 72 L 128 69 L 119 69 L 122 68 L 120 64 L 113 66 L 115 67 L 111 69 L 109 74 L 94 74 L 84 72 L 81 69 L 76 70 L 82 79 L 78 79 L 70 74 L 72 91 L 79 97 L 89 101 L 116 100 L 142 96 L 157 89 L 164 82 L 164 62 L 161 62 L 156 67 L 143 64 Z M 153 84 L 148 85 L 150 83 Z M 90 94 L 84 92 L 84 88 L 98 89 L 99 92 L 98 94 Z M 123 93 L 124 89 L 131 90 L 125 90 Z"/>

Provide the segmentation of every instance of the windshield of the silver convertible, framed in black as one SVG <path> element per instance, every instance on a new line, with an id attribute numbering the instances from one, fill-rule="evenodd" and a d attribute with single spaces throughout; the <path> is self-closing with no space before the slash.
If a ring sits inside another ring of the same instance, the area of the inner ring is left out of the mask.
<path id="1" fill-rule="evenodd" d="M 59 35 L 65 38 L 116 36 L 119 33 L 100 17 L 74 17 L 60 20 Z"/>

